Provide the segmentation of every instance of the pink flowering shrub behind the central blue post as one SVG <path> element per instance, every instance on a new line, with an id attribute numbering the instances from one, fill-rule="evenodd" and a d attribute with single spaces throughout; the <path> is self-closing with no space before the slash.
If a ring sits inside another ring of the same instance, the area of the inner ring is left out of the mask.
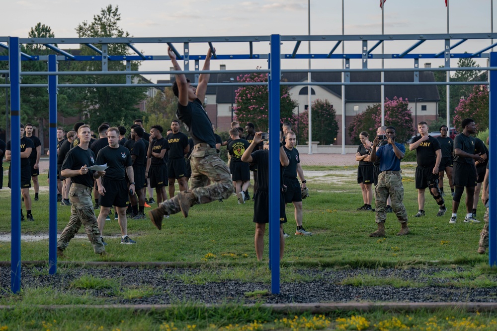
<path id="1" fill-rule="evenodd" d="M 267 82 L 267 73 L 250 73 L 237 77 L 238 82 Z M 251 122 L 256 131 L 267 131 L 268 128 L 268 108 L 269 92 L 267 86 L 249 85 L 236 90 L 236 107 L 234 112 L 236 120 L 241 126 Z M 297 107 L 297 102 L 290 98 L 288 86 L 280 87 L 280 119 L 281 124 L 293 122 L 293 110 Z"/>

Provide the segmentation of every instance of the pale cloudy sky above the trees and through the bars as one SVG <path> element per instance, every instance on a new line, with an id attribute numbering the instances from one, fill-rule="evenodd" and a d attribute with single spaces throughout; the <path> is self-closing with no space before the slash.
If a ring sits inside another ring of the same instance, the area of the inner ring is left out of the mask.
<path id="1" fill-rule="evenodd" d="M 449 31 L 451 33 L 491 32 L 492 0 L 449 0 Z M 93 15 L 112 4 L 119 6 L 120 26 L 134 37 L 209 37 L 209 36 L 255 36 L 255 35 L 307 35 L 308 0 L 120 0 L 102 2 L 97 0 L 8 0 L 2 4 L 0 36 L 25 38 L 31 27 L 38 22 L 52 28 L 58 38 L 77 37 L 76 27 L 83 21 L 91 21 Z M 381 34 L 382 11 L 379 0 L 344 0 L 345 34 Z M 311 34 L 335 35 L 342 33 L 341 0 L 311 0 Z M 496 9 L 497 10 L 497 9 Z M 495 15 L 494 15 L 495 16 Z M 385 34 L 445 33 L 447 11 L 444 0 L 387 0 L 385 2 Z M 386 43 L 385 52 L 400 53 L 414 42 Z M 311 45 L 314 53 L 328 53 L 334 42 Z M 490 41 L 466 42 L 455 52 L 474 52 L 490 45 Z M 149 55 L 165 55 L 164 45 L 135 45 Z M 219 53 L 247 54 L 248 45 L 214 45 Z M 372 46 L 372 45 L 371 45 Z M 370 46 L 370 47 L 371 47 Z M 207 44 L 191 45 L 190 54 L 204 54 Z M 282 50 L 291 52 L 294 43 L 287 43 Z M 181 45 L 177 45 L 181 49 Z M 419 52 L 439 52 L 443 42 L 425 42 Z M 254 52 L 266 52 L 268 45 L 257 45 Z M 360 53 L 360 43 L 347 43 L 347 53 Z M 378 48 L 377 51 L 380 51 Z M 306 53 L 307 45 L 299 52 Z M 341 52 L 341 47 L 336 51 Z M 436 61 L 433 66 L 440 65 Z M 420 65 L 422 65 L 420 60 Z M 216 61 L 228 69 L 266 66 L 262 61 Z M 485 66 L 486 63 L 480 63 Z M 370 61 L 370 66 L 379 63 Z M 456 66 L 457 63 L 452 63 Z M 141 70 L 164 70 L 170 64 L 164 62 L 144 63 Z M 305 62 L 283 63 L 285 67 L 307 66 Z M 313 67 L 341 67 L 340 60 L 313 61 Z M 360 67 L 360 63 L 352 63 Z M 386 62 L 386 67 L 413 66 L 413 60 Z M 155 81 L 157 78 L 148 77 Z"/>

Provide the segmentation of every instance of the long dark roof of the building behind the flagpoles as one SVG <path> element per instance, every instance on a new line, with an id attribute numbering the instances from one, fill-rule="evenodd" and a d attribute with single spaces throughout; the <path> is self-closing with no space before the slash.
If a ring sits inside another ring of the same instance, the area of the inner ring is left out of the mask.
<path id="1" fill-rule="evenodd" d="M 217 82 L 230 81 L 233 77 L 242 75 L 237 72 L 221 73 L 217 75 Z M 385 72 L 385 81 L 414 81 L 413 71 L 387 71 Z M 210 81 L 215 81 L 214 75 L 211 75 Z M 307 81 L 307 73 L 302 72 L 285 72 L 282 74 L 282 79 L 288 82 L 302 82 Z M 312 74 L 313 82 L 340 82 L 340 72 L 314 72 Z M 351 72 L 351 82 L 380 82 L 381 72 Z M 432 71 L 420 71 L 420 82 L 435 81 Z M 305 83 L 303 84 L 303 86 Z M 330 93 L 335 94 L 341 98 L 341 85 L 320 85 L 320 87 L 328 90 Z M 217 88 L 217 103 L 231 103 L 232 102 L 232 88 L 231 86 L 219 86 Z M 235 90 L 237 87 L 234 87 Z M 234 95 L 234 93 L 233 93 Z M 393 99 L 395 96 L 402 97 L 403 99 L 414 100 L 415 98 L 422 98 L 424 101 L 439 101 L 438 89 L 436 85 L 385 85 L 385 97 Z M 380 85 L 353 85 L 346 86 L 345 88 L 345 101 L 346 102 L 380 102 L 381 100 L 381 86 Z M 233 100 L 234 101 L 234 100 Z"/>

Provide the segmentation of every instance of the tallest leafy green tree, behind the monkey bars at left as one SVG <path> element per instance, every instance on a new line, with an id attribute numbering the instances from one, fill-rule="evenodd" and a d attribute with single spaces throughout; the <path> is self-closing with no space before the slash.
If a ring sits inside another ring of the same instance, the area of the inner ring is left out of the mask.
<path id="1" fill-rule="evenodd" d="M 100 14 L 93 16 L 93 21 L 79 24 L 76 28 L 78 37 L 129 37 L 129 33 L 119 27 L 121 14 L 118 6 L 101 9 Z M 101 44 L 95 45 L 99 49 Z M 80 48 L 81 55 L 95 55 L 95 52 L 86 46 Z M 123 44 L 109 44 L 108 55 L 130 55 L 130 51 Z M 138 70 L 140 64 L 133 62 L 131 70 Z M 72 64 L 72 70 L 100 71 L 101 61 L 87 61 Z M 125 71 L 126 65 L 119 61 L 108 62 L 109 71 Z M 132 77 L 132 79 L 135 77 Z M 89 84 L 124 84 L 125 75 L 88 75 L 76 76 L 75 82 L 85 82 Z M 140 87 L 91 87 L 85 88 L 84 97 L 80 98 L 83 104 L 83 111 L 89 117 L 89 124 L 92 128 L 98 127 L 102 122 L 118 123 L 121 118 L 125 123 L 132 123 L 140 117 L 138 104 L 146 99 L 146 88 Z M 81 95 L 80 95 L 81 96 Z"/>

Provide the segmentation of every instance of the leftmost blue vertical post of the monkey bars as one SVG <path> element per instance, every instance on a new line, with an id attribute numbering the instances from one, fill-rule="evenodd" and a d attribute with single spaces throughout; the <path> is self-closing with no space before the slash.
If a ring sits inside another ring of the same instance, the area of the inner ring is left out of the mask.
<path id="1" fill-rule="evenodd" d="M 21 112 L 21 53 L 19 38 L 8 39 L 8 63 L 10 77 L 10 152 L 12 169 L 21 168 L 20 112 Z M 10 173 L 10 289 L 21 290 L 21 173 Z"/>

